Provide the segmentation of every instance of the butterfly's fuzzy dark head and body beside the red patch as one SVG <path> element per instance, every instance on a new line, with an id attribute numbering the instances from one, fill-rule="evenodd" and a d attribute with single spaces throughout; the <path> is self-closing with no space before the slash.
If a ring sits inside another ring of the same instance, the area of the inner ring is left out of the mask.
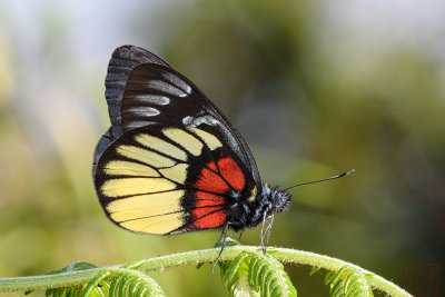
<path id="1" fill-rule="evenodd" d="M 264 218 L 275 212 L 283 212 L 290 206 L 291 195 L 279 187 L 270 188 L 263 184 L 263 190 L 251 201 L 234 205 L 229 216 L 229 226 L 236 231 L 253 228 L 263 222 Z"/>

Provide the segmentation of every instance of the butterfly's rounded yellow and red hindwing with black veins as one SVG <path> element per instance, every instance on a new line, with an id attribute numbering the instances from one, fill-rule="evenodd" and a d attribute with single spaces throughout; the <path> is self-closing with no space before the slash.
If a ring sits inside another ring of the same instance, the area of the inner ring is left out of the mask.
<path id="1" fill-rule="evenodd" d="M 95 184 L 113 222 L 164 235 L 224 226 L 229 206 L 256 191 L 248 174 L 216 136 L 150 125 L 123 133 L 103 151 Z"/>

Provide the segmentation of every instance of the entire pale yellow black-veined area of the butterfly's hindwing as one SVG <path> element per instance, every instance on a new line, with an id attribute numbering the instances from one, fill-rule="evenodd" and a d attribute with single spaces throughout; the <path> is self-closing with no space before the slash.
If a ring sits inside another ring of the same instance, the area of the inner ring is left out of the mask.
<path id="1" fill-rule="evenodd" d="M 96 179 L 100 186 L 96 186 L 105 211 L 116 224 L 135 232 L 184 231 L 180 228 L 189 216 L 181 206 L 188 157 L 199 156 L 205 143 L 209 148 L 221 146 L 199 129 L 165 128 L 161 132 L 122 138 L 120 145 L 106 150 L 110 155 L 102 157 L 97 168 L 101 172 Z"/>

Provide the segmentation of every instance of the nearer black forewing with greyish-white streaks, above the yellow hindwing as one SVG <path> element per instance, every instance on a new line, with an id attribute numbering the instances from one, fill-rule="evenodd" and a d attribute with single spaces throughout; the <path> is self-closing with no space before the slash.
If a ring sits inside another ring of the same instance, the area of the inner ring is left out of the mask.
<path id="1" fill-rule="evenodd" d="M 126 85 L 121 122 L 123 131 L 161 123 L 218 132 L 260 187 L 257 166 L 240 133 L 191 81 L 170 67 L 154 63 L 135 67 Z"/>

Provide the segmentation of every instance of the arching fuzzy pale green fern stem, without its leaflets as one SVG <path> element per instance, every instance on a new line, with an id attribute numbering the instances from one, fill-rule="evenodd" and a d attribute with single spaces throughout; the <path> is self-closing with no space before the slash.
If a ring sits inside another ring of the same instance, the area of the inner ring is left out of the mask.
<path id="1" fill-rule="evenodd" d="M 220 260 L 234 260 L 239 253 L 243 250 L 260 250 L 259 247 L 253 246 L 233 246 L 226 247 Z M 47 289 L 53 287 L 73 286 L 80 284 L 87 284 L 98 273 L 106 268 L 132 268 L 144 273 L 147 271 L 164 271 L 175 267 L 181 266 L 195 266 L 204 263 L 212 263 L 219 254 L 219 248 L 191 250 L 180 254 L 159 256 L 137 263 L 130 263 L 125 265 L 113 265 L 108 267 L 92 268 L 87 270 L 77 270 L 58 275 L 43 275 L 32 277 L 7 277 L 0 278 L 0 291 L 11 290 L 33 290 L 33 289 Z M 366 269 L 363 269 L 354 264 L 332 258 L 324 255 L 318 255 L 310 251 L 295 250 L 287 248 L 268 248 L 268 254 L 279 261 L 307 265 L 310 267 L 323 268 L 326 270 L 337 271 L 342 267 L 348 265 L 355 269 L 362 270 L 367 275 L 367 279 L 372 286 L 387 295 L 394 297 L 408 297 L 412 296 L 404 289 L 389 280 L 384 279 Z"/>

